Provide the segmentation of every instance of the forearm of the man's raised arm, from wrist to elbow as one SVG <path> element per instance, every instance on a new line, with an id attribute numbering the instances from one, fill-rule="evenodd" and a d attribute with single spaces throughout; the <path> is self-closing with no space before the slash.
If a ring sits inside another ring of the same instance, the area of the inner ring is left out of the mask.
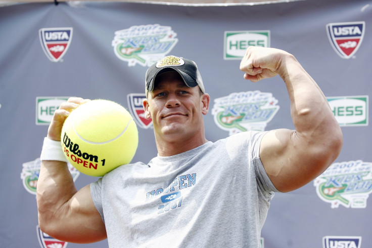
<path id="1" fill-rule="evenodd" d="M 311 161 L 311 171 L 317 175 L 339 155 L 342 132 L 316 82 L 292 55 L 288 56 L 280 75 L 291 101 L 291 116 L 296 129 L 292 135 L 294 152 L 303 158 L 312 157 L 308 161 Z"/>

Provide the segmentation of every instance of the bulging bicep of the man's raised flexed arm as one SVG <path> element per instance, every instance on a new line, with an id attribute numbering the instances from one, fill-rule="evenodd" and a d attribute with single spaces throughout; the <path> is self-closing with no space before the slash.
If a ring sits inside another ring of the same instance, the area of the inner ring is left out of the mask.
<path id="1" fill-rule="evenodd" d="M 288 192 L 302 187 L 323 170 L 317 145 L 295 130 L 268 132 L 261 141 L 260 159 L 277 190 Z"/>

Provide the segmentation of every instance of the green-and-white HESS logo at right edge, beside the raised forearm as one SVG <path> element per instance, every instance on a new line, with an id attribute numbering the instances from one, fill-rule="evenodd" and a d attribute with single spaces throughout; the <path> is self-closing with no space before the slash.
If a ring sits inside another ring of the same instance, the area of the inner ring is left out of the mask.
<path id="1" fill-rule="evenodd" d="M 368 126 L 368 96 L 327 97 L 340 126 Z"/>

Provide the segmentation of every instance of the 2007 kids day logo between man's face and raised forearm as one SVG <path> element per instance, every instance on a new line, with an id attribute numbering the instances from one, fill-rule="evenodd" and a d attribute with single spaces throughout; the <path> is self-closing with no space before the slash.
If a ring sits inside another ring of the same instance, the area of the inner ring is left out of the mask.
<path id="1" fill-rule="evenodd" d="M 248 91 L 231 93 L 214 100 L 214 122 L 229 135 L 249 130 L 264 131 L 279 110 L 271 93 Z"/>

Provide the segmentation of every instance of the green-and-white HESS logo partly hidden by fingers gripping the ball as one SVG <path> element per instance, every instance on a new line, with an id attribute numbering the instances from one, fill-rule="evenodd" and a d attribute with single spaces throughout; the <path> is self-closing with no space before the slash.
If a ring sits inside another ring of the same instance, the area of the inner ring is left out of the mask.
<path id="1" fill-rule="evenodd" d="M 36 125 L 49 125 L 61 103 L 69 97 L 36 97 Z"/>

